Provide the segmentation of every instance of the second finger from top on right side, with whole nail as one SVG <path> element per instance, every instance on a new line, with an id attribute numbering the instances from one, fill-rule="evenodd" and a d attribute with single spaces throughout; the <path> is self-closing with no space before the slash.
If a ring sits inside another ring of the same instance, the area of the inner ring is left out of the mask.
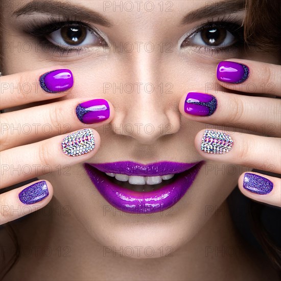
<path id="1" fill-rule="evenodd" d="M 280 100 L 218 92 L 208 95 L 189 92 L 179 110 L 190 120 L 235 127 L 270 136 L 280 136 Z"/>

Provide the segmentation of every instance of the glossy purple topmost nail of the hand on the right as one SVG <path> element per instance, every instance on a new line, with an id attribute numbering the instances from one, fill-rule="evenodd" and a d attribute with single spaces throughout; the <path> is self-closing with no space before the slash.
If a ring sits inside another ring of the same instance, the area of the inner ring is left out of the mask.
<path id="1" fill-rule="evenodd" d="M 233 61 L 221 61 L 217 68 L 217 78 L 219 81 L 227 83 L 242 83 L 249 76 L 248 66 L 233 62 Z"/>

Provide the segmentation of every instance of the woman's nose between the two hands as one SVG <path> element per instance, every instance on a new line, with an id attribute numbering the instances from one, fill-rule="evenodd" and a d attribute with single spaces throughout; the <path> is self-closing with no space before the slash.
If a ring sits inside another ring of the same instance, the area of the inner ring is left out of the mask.
<path id="1" fill-rule="evenodd" d="M 131 68 L 126 72 L 126 77 L 133 84 L 133 92 L 126 92 L 123 83 L 122 102 L 125 104 L 122 105 L 120 114 L 116 111 L 114 133 L 127 135 L 140 144 L 150 145 L 160 137 L 179 130 L 179 95 L 177 100 L 175 93 L 171 91 L 172 83 L 167 83 L 168 73 L 165 75 L 159 71 L 162 68 L 159 65 L 159 54 L 140 52 L 129 60 Z"/>

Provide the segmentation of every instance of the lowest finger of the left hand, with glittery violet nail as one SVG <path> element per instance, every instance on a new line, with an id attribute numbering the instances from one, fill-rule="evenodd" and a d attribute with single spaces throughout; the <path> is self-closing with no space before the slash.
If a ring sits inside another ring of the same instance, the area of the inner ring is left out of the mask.
<path id="1" fill-rule="evenodd" d="M 0 225 L 44 207 L 53 196 L 49 181 L 39 180 L 0 195 Z"/>

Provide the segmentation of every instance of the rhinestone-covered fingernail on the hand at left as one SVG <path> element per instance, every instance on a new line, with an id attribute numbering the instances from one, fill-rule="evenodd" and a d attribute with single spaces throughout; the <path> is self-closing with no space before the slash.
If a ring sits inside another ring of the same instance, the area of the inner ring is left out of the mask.
<path id="1" fill-rule="evenodd" d="M 79 156 L 95 148 L 91 129 L 83 129 L 66 136 L 61 143 L 62 151 L 68 156 Z"/>

